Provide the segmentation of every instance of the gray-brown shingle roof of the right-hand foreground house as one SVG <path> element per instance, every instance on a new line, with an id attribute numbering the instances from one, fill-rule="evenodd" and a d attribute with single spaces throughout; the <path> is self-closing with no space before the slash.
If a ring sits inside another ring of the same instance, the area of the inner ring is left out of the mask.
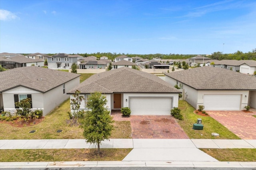
<path id="1" fill-rule="evenodd" d="M 256 77 L 216 67 L 197 67 L 165 75 L 198 90 L 256 90 Z"/>

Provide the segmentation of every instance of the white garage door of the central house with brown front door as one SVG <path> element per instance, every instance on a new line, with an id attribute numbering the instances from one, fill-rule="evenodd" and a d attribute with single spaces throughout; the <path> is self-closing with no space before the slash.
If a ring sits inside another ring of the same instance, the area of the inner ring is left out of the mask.
<path id="1" fill-rule="evenodd" d="M 131 115 L 170 115 L 172 98 L 130 97 Z"/>

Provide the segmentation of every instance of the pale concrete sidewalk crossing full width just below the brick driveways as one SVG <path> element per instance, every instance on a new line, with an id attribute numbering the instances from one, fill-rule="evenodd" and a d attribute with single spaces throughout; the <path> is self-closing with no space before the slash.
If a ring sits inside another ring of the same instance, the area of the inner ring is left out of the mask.
<path id="1" fill-rule="evenodd" d="M 0 149 L 95 148 L 85 139 L 0 140 Z M 100 148 L 256 148 L 256 140 L 235 139 L 110 139 Z"/>

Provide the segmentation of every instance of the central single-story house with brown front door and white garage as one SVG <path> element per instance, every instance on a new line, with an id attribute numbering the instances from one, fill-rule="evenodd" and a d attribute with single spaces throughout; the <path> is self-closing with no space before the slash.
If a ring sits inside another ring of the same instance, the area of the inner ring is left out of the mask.
<path id="1" fill-rule="evenodd" d="M 98 91 L 106 95 L 108 110 L 129 107 L 131 115 L 170 115 L 181 93 L 156 75 L 127 67 L 92 75 L 68 92 L 70 99 L 76 90 L 85 98 L 80 110 L 87 109 L 90 93 Z"/>

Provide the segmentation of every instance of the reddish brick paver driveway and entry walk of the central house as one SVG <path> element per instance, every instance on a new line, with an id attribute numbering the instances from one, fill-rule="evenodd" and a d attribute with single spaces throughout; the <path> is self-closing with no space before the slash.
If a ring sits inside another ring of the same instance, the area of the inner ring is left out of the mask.
<path id="1" fill-rule="evenodd" d="M 135 116 L 121 117 L 120 111 L 112 111 L 115 121 L 130 121 L 132 138 L 144 139 L 188 139 L 187 134 L 170 116 Z"/>

